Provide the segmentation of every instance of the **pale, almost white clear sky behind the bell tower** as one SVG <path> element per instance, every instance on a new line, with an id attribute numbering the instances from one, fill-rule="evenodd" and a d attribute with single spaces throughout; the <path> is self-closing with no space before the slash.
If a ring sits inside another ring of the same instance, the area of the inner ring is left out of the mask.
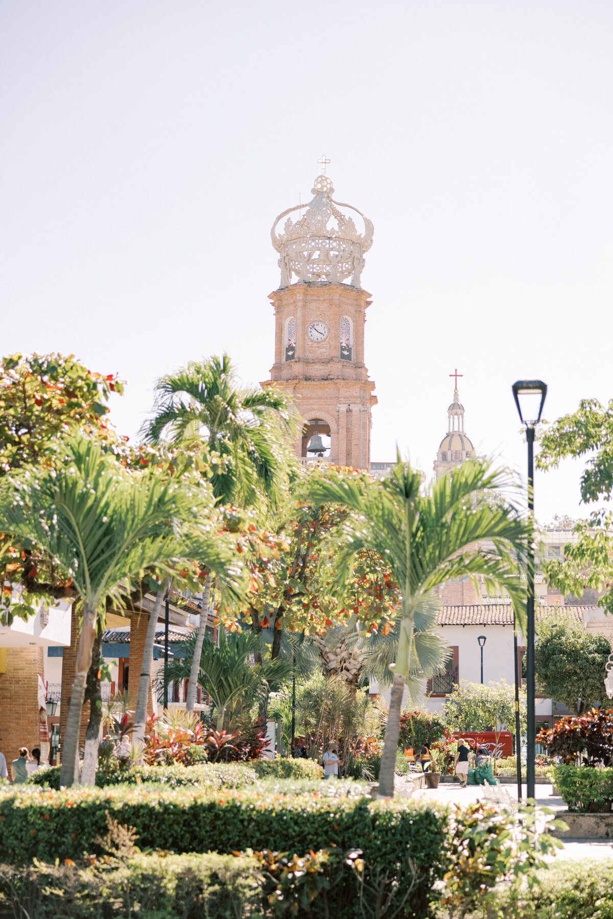
<path id="1" fill-rule="evenodd" d="M 270 226 L 311 198 L 374 222 L 372 459 L 428 472 L 458 369 L 466 433 L 523 471 L 511 385 L 544 416 L 613 396 L 613 5 L 567 0 L 3 0 L 1 353 L 154 381 L 227 351 L 267 380 Z M 536 514 L 581 516 L 582 461 Z"/>

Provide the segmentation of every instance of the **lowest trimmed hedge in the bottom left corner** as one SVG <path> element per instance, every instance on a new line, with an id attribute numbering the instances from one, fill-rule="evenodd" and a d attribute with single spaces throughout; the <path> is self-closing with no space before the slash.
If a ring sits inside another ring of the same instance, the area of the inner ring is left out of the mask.
<path id="1" fill-rule="evenodd" d="M 243 919 L 262 916 L 263 872 L 255 859 L 139 855 L 96 868 L 0 865 L 0 915 L 36 919 Z M 23 912 L 23 910 L 27 912 Z"/>

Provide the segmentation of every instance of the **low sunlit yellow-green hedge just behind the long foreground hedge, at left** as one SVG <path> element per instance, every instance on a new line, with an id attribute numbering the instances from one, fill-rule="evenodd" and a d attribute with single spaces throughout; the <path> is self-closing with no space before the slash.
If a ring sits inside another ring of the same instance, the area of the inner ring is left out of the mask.
<path id="1" fill-rule="evenodd" d="M 104 789 L 113 785 L 138 785 L 141 782 L 159 782 L 169 788 L 180 785 L 197 785 L 201 788 L 244 789 L 255 782 L 252 764 L 200 763 L 198 766 L 129 766 L 96 772 L 96 786 Z M 28 785 L 40 785 L 59 791 L 60 766 L 40 769 L 28 778 Z"/>

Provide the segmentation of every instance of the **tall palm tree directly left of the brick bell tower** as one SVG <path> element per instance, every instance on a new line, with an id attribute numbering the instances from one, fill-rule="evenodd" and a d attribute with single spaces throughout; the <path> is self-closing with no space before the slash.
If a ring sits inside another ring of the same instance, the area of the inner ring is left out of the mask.
<path id="1" fill-rule="evenodd" d="M 155 414 L 142 427 L 145 441 L 177 444 L 205 437 L 223 465 L 212 478 L 219 504 L 241 507 L 261 504 L 274 509 L 286 481 L 289 450 L 282 428 L 289 431 L 285 397 L 274 390 L 239 389 L 228 355 L 191 361 L 186 368 L 158 380 Z M 281 424 L 279 425 L 279 421 Z M 198 662 L 209 614 L 210 577 L 200 612 L 193 673 L 187 686 L 187 711 L 193 711 L 198 685 Z"/>

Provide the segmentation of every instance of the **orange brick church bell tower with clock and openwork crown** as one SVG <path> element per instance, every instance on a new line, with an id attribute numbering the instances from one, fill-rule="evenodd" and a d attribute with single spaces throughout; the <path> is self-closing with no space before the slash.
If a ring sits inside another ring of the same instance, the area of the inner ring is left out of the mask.
<path id="1" fill-rule="evenodd" d="M 270 232 L 281 277 L 269 294 L 275 311 L 275 363 L 270 380 L 299 415 L 296 453 L 369 469 L 370 409 L 377 403 L 364 364 L 364 323 L 370 305 L 361 287 L 373 226 L 350 204 L 333 199 L 330 176 L 317 176 L 308 205 L 284 210 Z M 295 223 L 289 214 L 306 212 Z M 363 222 L 358 229 L 352 210 Z M 278 222 L 287 217 L 283 233 Z"/>

